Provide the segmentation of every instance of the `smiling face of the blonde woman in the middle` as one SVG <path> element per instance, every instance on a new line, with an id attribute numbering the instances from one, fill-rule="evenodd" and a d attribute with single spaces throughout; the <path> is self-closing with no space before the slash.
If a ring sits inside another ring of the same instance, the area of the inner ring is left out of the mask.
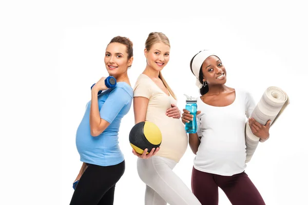
<path id="1" fill-rule="evenodd" d="M 170 47 L 162 42 L 153 44 L 149 50 L 144 49 L 147 64 L 157 71 L 161 71 L 169 61 Z"/>

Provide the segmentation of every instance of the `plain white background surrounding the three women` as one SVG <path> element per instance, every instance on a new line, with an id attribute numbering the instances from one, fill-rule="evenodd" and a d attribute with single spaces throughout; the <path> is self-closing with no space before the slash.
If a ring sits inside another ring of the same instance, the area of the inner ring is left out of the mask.
<path id="1" fill-rule="evenodd" d="M 75 132 L 90 86 L 106 76 L 110 39 L 133 42 L 131 85 L 145 68 L 148 33 L 165 33 L 171 44 L 163 70 L 185 105 L 198 96 L 192 56 L 215 49 L 227 70 L 227 86 L 244 88 L 258 101 L 268 86 L 290 97 L 259 144 L 246 173 L 266 204 L 308 204 L 306 80 L 307 11 L 300 1 L 2 1 L 0 3 L 0 204 L 69 204 L 81 162 Z M 126 171 L 114 204 L 143 204 L 145 185 L 136 170 L 128 133 L 133 109 L 123 118 L 119 140 Z M 223 129 L 223 128 L 222 128 Z M 190 188 L 190 148 L 174 171 Z M 223 192 L 219 204 L 230 204 Z"/>

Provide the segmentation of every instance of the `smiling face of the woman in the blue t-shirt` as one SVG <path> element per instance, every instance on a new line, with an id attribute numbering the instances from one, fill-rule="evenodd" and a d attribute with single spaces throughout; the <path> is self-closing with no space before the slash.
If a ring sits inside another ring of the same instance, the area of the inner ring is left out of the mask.
<path id="1" fill-rule="evenodd" d="M 105 65 L 109 75 L 117 77 L 125 72 L 132 63 L 132 57 L 127 59 L 126 45 L 110 43 L 105 52 Z"/>

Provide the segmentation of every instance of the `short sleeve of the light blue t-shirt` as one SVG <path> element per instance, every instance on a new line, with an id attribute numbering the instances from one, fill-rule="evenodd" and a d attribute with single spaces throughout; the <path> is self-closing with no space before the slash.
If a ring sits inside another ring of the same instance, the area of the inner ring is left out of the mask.
<path id="1" fill-rule="evenodd" d="M 129 104 L 132 100 L 132 97 L 127 93 L 124 88 L 116 87 L 113 89 L 104 105 L 100 110 L 101 118 L 106 120 L 111 124 L 115 117 L 119 114 L 124 106 Z"/>

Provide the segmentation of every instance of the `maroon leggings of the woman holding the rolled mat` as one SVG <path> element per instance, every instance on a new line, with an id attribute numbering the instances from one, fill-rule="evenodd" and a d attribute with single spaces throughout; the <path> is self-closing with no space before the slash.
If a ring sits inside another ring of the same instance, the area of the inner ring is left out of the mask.
<path id="1" fill-rule="evenodd" d="M 264 205 L 259 191 L 245 172 L 233 176 L 209 174 L 192 168 L 191 189 L 202 205 L 218 204 L 218 187 L 233 205 Z"/>

